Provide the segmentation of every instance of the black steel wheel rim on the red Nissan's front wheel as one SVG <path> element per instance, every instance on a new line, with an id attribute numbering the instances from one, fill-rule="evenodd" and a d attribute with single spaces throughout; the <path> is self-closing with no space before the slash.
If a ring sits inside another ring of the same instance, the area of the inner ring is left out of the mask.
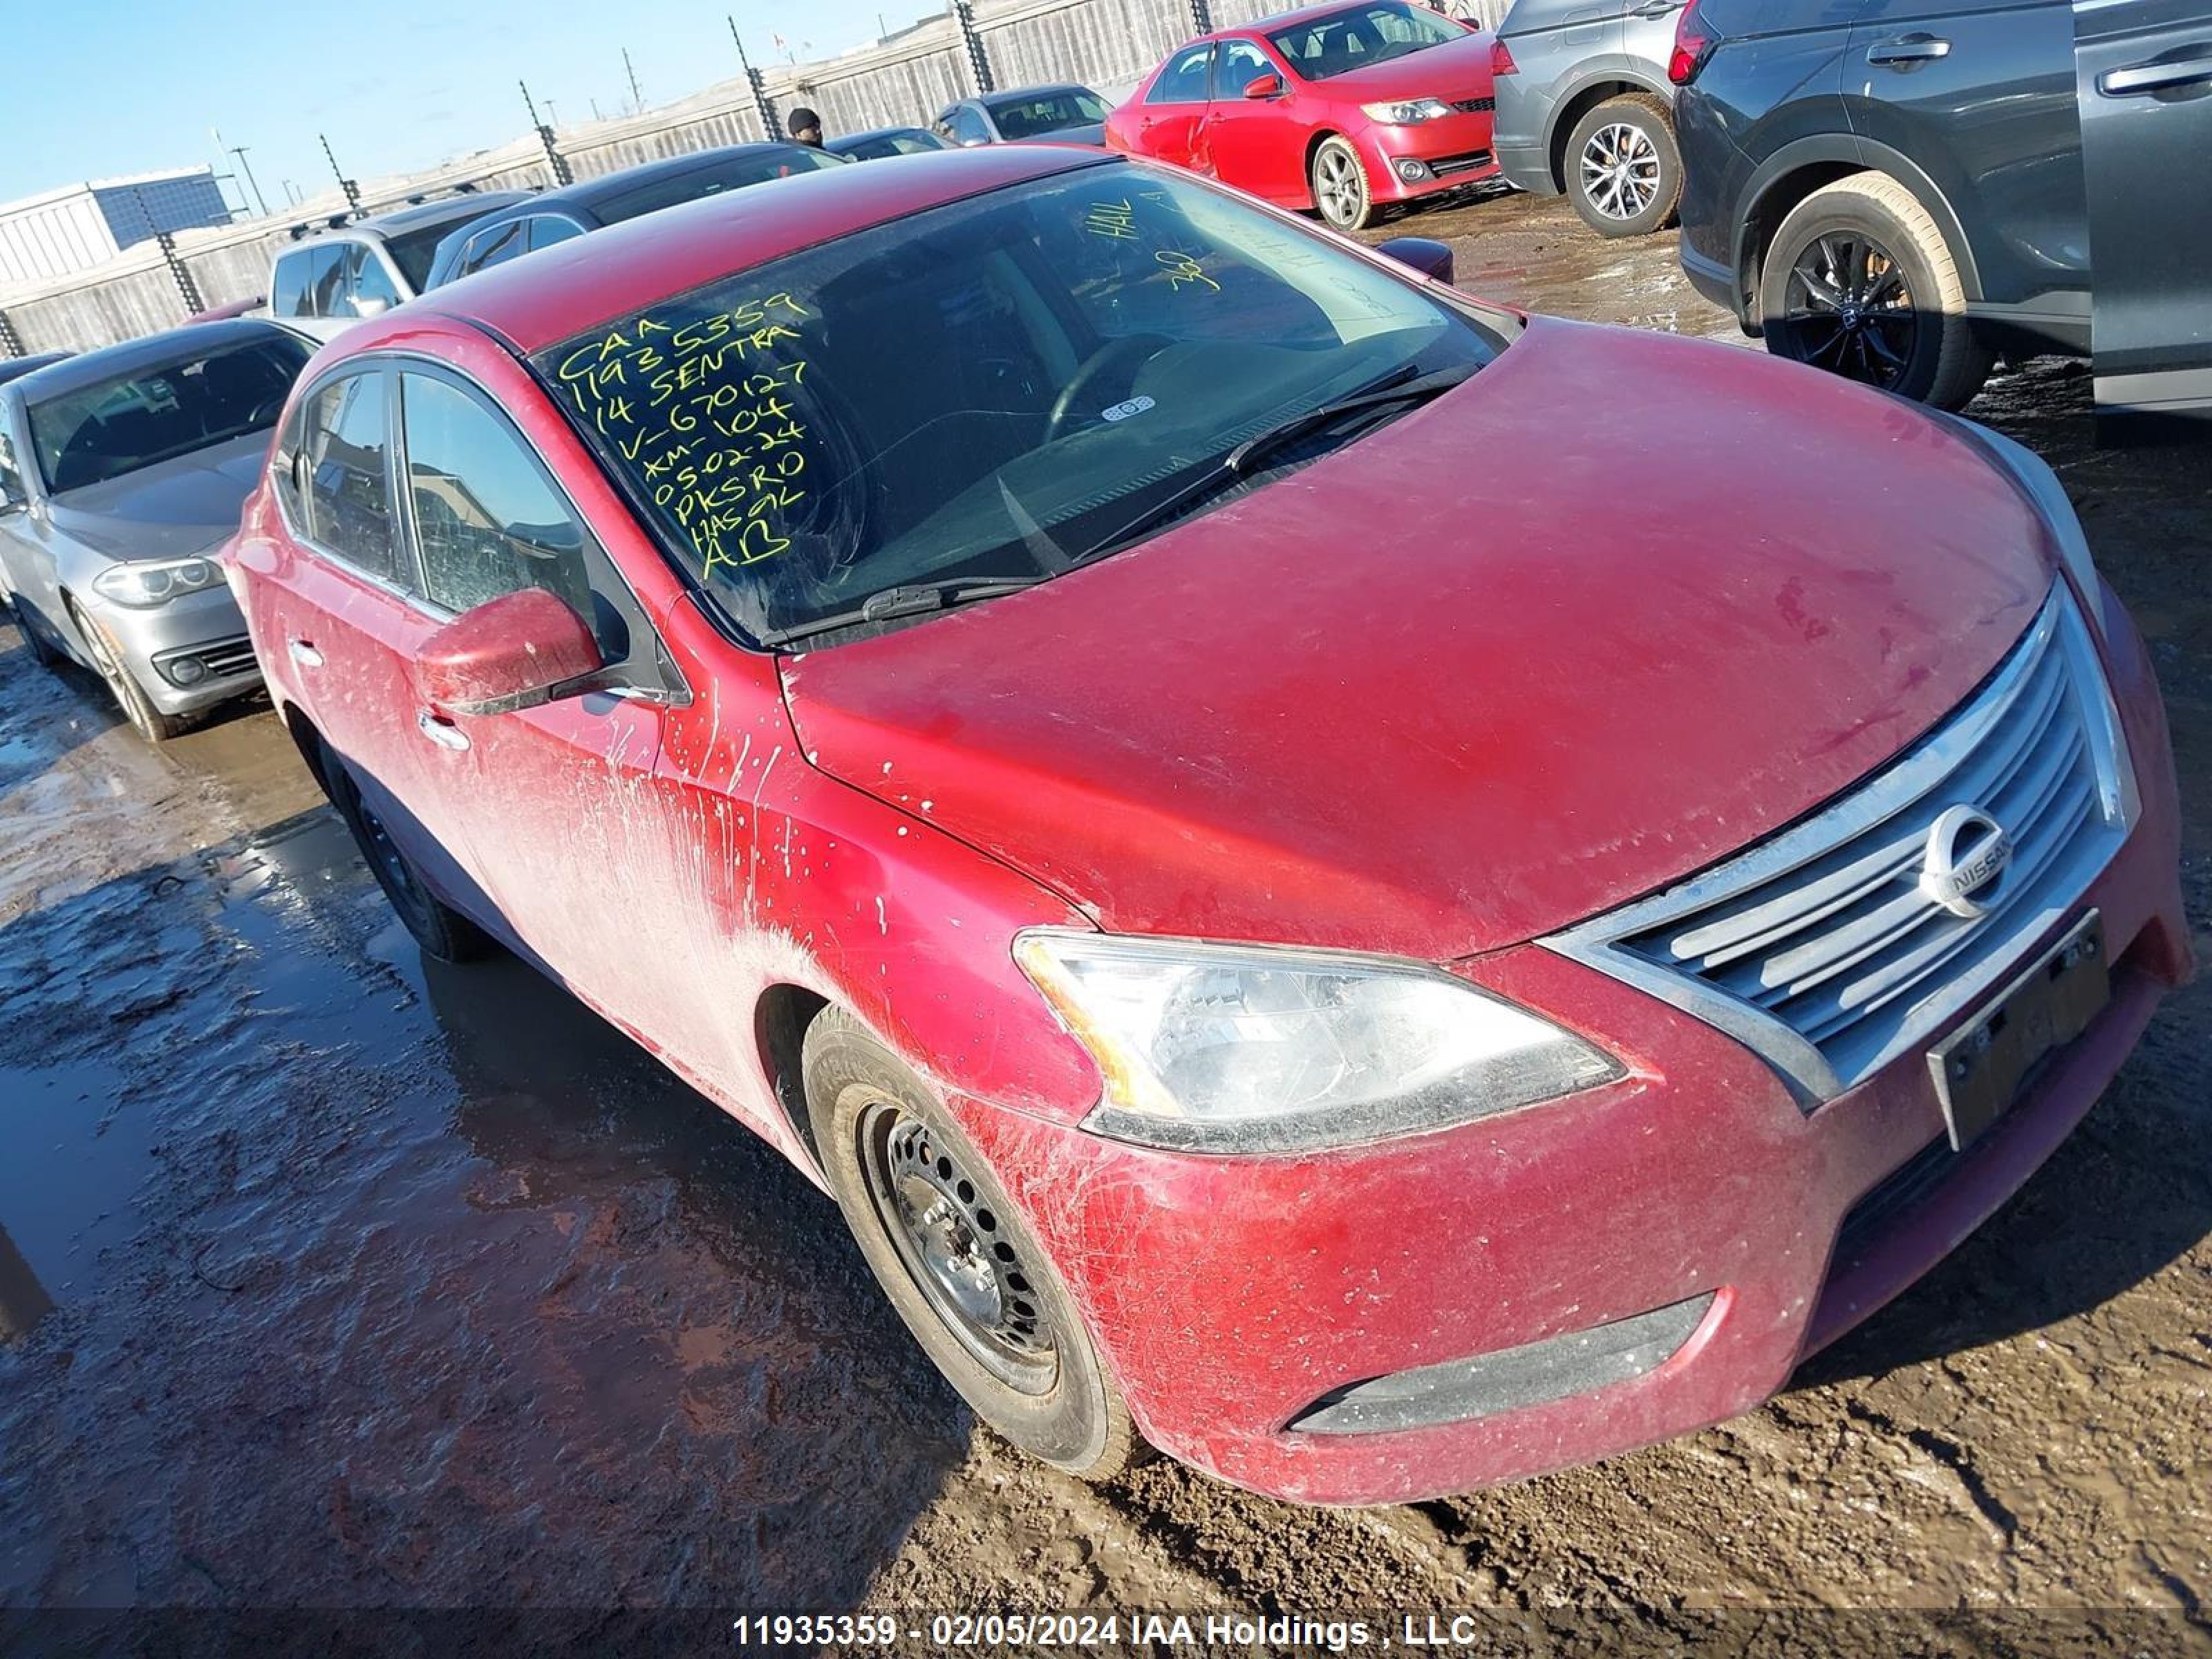
<path id="1" fill-rule="evenodd" d="M 993 1378 L 1051 1394 L 1060 1340 L 1024 1259 L 951 1148 L 894 1102 L 860 1115 L 860 1166 L 885 1237 L 938 1321 Z"/>

